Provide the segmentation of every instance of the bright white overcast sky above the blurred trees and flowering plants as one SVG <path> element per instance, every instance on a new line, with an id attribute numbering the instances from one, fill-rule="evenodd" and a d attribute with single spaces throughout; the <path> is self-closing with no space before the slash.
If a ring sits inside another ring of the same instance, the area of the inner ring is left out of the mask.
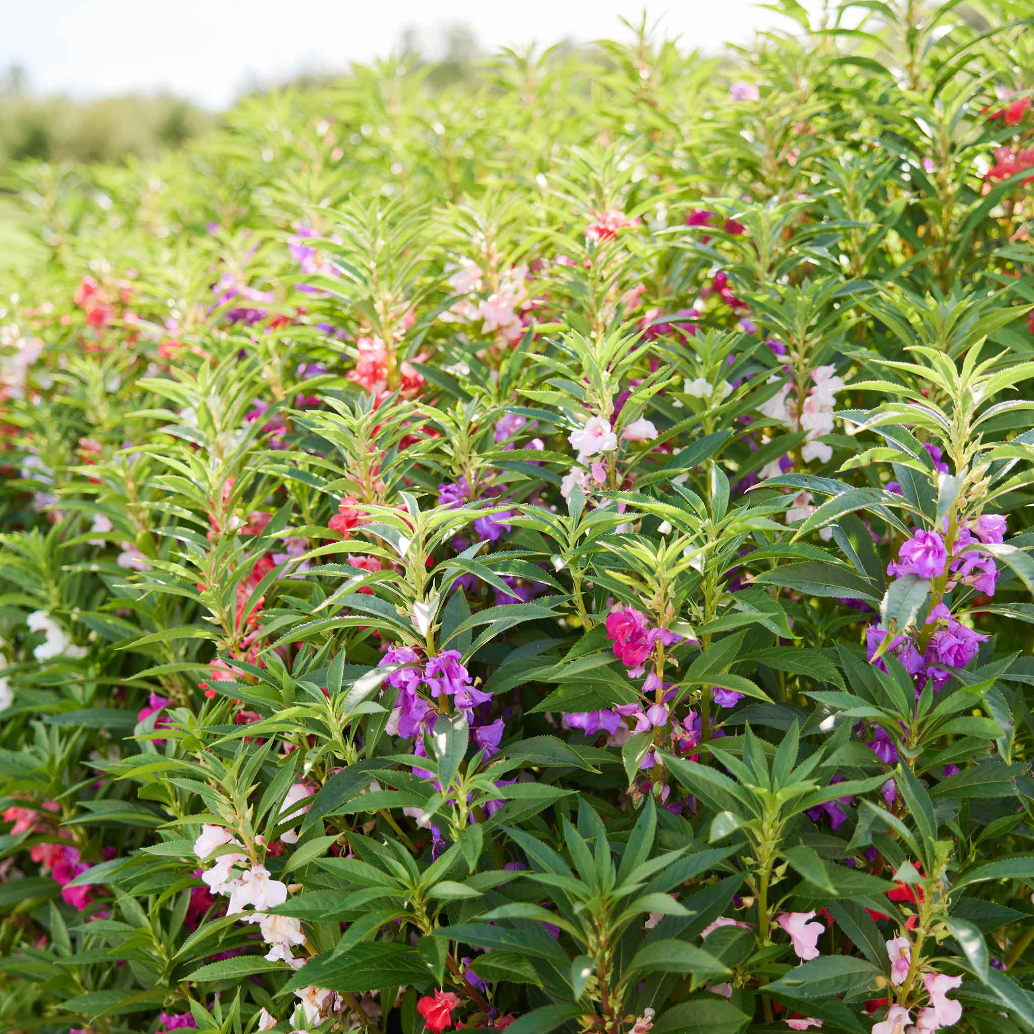
<path id="1" fill-rule="evenodd" d="M 219 109 L 246 87 L 385 57 L 409 27 L 432 54 L 457 24 L 488 51 L 625 38 L 618 18 L 637 21 L 643 0 L 3 0 L 4 7 L 0 72 L 21 66 L 37 93 L 164 90 Z M 790 25 L 757 0 L 651 0 L 647 10 L 687 50 L 713 52 Z"/>

